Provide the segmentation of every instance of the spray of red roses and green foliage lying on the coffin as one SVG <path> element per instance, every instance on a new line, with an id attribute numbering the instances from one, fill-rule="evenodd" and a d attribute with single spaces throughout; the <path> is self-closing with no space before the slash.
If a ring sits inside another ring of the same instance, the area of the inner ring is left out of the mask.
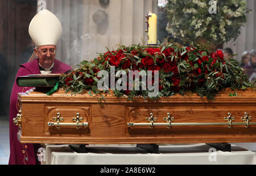
<path id="1" fill-rule="evenodd" d="M 98 73 L 105 70 L 110 74 L 111 66 L 115 66 L 115 72 L 158 71 L 159 93 L 156 97 L 150 97 L 151 99 L 189 92 L 213 99 L 214 95 L 225 87 L 234 90 L 252 86 L 245 70 L 240 68 L 236 60 L 224 59 L 221 50 L 211 52 L 206 45 L 190 42 L 189 47 L 185 47 L 179 43 L 165 41 L 156 47 L 121 45 L 115 51 L 101 53 L 93 61 L 82 61 L 79 68 L 60 77 L 59 87 L 66 93 L 87 92 L 90 95 L 101 95 L 100 100 L 105 99 L 103 93 L 109 93 L 109 90 L 97 89 L 100 80 Z M 139 86 L 142 86 L 141 80 Z M 138 96 L 148 98 L 148 91 L 113 90 L 115 96 L 125 96 L 129 100 Z"/>

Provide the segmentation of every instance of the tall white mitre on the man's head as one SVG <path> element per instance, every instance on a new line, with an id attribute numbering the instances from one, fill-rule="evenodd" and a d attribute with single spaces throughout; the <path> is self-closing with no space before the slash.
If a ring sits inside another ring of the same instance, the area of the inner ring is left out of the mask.
<path id="1" fill-rule="evenodd" d="M 44 9 L 32 18 L 28 33 L 36 46 L 56 45 L 62 33 L 62 26 L 57 16 Z M 35 52 L 33 55 L 28 62 L 35 59 Z"/>

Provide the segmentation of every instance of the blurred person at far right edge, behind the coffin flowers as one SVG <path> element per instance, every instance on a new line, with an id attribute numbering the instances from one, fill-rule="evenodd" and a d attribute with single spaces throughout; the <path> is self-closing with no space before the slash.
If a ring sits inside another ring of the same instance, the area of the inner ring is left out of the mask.
<path id="1" fill-rule="evenodd" d="M 256 50 L 250 51 L 250 64 L 244 67 L 249 76 L 249 81 L 254 81 L 256 79 Z"/>

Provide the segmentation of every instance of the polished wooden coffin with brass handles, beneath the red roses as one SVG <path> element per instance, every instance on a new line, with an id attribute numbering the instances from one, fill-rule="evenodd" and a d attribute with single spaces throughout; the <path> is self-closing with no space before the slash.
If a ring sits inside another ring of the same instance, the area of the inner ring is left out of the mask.
<path id="1" fill-rule="evenodd" d="M 221 91 L 210 101 L 195 94 L 158 100 L 88 94 L 19 93 L 21 143 L 153 144 L 256 142 L 256 92 Z"/>

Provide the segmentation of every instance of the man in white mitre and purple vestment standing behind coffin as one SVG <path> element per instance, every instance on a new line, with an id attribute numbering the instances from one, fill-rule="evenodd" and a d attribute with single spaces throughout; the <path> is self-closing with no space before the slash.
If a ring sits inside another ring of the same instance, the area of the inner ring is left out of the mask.
<path id="1" fill-rule="evenodd" d="M 55 58 L 56 43 L 62 32 L 59 19 L 49 12 L 42 10 L 31 20 L 28 29 L 36 48 L 30 60 L 20 65 L 16 78 L 26 76 L 27 74 L 48 74 L 48 73 L 65 73 L 72 70 L 71 66 Z M 18 93 L 24 93 L 31 90 L 32 87 L 19 87 L 14 82 L 13 90 L 10 97 L 10 158 L 9 164 L 36 164 L 37 146 L 34 144 L 21 144 L 17 139 L 18 126 L 13 123 L 19 111 Z M 36 107 L 35 107 L 36 108 Z"/>

